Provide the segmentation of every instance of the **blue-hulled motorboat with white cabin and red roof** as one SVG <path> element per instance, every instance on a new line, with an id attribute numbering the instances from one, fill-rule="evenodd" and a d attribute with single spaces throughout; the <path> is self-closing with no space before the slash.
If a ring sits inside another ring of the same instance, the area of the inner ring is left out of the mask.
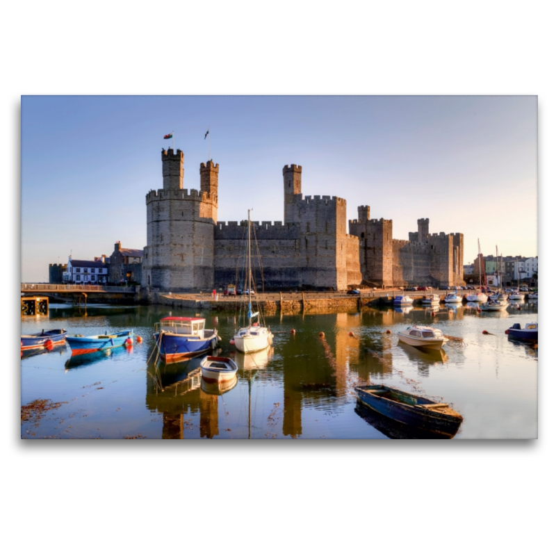
<path id="1" fill-rule="evenodd" d="M 163 361 L 214 350 L 220 338 L 216 329 L 206 330 L 205 319 L 198 317 L 165 317 L 157 322 L 154 339 Z"/>

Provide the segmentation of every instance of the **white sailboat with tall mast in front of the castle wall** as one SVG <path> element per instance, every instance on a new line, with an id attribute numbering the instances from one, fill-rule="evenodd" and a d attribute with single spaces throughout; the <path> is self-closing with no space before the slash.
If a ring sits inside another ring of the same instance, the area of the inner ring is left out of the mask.
<path id="1" fill-rule="evenodd" d="M 234 344 L 236 345 L 236 350 L 242 353 L 252 353 L 264 350 L 265 347 L 272 345 L 272 332 L 270 328 L 261 326 L 259 320 L 253 322 L 256 316 L 259 316 L 260 311 L 253 311 L 252 297 L 255 295 L 255 281 L 253 279 L 253 272 L 251 268 L 251 211 L 247 211 L 247 258 L 245 265 L 245 286 L 243 291 L 247 291 L 247 322 L 244 322 L 244 326 L 240 327 L 236 334 L 234 334 Z M 245 313 L 244 313 L 245 317 Z M 261 316 L 262 317 L 262 316 Z M 245 318 L 244 318 L 245 320 Z M 247 324 L 247 326 L 245 326 Z"/>

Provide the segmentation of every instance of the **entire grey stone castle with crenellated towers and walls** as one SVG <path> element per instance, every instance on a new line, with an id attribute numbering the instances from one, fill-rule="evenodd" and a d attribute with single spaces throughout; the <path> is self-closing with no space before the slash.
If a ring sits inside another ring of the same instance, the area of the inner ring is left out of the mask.
<path id="1" fill-rule="evenodd" d="M 163 149 L 161 156 L 163 188 L 146 198 L 141 285 L 183 292 L 238 284 L 247 220 L 218 221 L 218 164 L 201 163 L 200 189 L 188 191 L 183 152 Z M 253 222 L 265 289 L 462 283 L 463 234 L 431 235 L 426 219 L 409 241 L 394 240 L 392 221 L 370 220 L 368 206 L 359 206 L 348 233 L 345 199 L 304 197 L 301 173 L 295 164 L 282 170 L 284 222 Z"/>

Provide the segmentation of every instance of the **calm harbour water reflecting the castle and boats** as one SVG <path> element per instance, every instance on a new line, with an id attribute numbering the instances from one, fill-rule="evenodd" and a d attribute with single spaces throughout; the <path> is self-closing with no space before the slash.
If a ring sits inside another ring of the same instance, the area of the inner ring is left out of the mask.
<path id="1" fill-rule="evenodd" d="M 274 345 L 268 352 L 234 354 L 240 368 L 237 381 L 222 393 L 200 376 L 188 377 L 201 358 L 155 364 L 153 325 L 170 314 L 167 307 L 89 306 L 85 311 L 51 305 L 49 318 L 22 319 L 22 334 L 43 328 L 84 335 L 133 328 L 143 342 L 78 357 L 71 357 L 67 345 L 51 352 L 24 352 L 22 404 L 36 399 L 67 403 L 47 411 L 38 423 L 22 423 L 22 437 L 407 437 L 403 427 L 377 418 L 356 402 L 354 386 L 382 382 L 452 404 L 464 416 L 455 439 L 534 438 L 538 352 L 509 341 L 504 331 L 513 322 L 536 321 L 537 305 L 523 304 L 521 310 L 509 306 L 502 313 L 477 313 L 471 305 L 452 312 L 442 306 L 434 317 L 430 309 L 418 308 L 278 313 L 266 319 Z M 221 354 L 233 353 L 229 339 L 234 315 L 202 316 L 208 328 L 218 328 Z M 396 332 L 410 324 L 433 324 L 464 341 L 450 341 L 437 354 L 425 353 L 398 343 Z M 387 329 L 392 334 L 386 334 Z M 325 333 L 324 342 L 319 332 Z"/>

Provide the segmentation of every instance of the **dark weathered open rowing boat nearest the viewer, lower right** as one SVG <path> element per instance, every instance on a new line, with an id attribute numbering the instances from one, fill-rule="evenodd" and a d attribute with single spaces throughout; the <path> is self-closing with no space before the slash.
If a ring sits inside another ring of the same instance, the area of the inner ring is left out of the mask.
<path id="1" fill-rule="evenodd" d="M 452 438 L 463 417 L 448 404 L 396 390 L 384 384 L 358 386 L 359 400 L 370 409 L 398 423 Z"/>

